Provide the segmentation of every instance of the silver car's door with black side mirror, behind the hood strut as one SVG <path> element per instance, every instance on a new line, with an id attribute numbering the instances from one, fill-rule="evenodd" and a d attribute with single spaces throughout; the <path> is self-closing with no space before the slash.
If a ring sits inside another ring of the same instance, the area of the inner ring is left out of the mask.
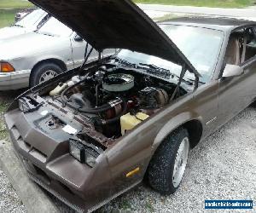
<path id="1" fill-rule="evenodd" d="M 74 68 L 81 66 L 84 63 L 84 53 L 86 48 L 86 41 L 82 37 L 79 37 L 75 32 L 73 36 L 70 38 L 72 52 L 73 52 L 73 64 Z M 89 44 L 89 49 L 91 48 Z M 98 52 L 96 49 L 93 49 L 90 54 L 90 60 L 96 60 L 98 58 Z"/>

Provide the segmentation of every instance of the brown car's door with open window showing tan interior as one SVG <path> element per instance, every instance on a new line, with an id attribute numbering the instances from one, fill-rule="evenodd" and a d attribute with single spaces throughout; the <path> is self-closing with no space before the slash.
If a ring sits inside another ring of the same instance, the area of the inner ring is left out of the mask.
<path id="1" fill-rule="evenodd" d="M 229 78 L 221 76 L 218 80 L 218 118 L 221 124 L 241 112 L 256 97 L 256 48 L 254 54 L 248 51 L 248 45 L 254 39 L 250 27 L 238 29 L 230 35 L 225 63 L 240 66 L 244 73 Z"/>

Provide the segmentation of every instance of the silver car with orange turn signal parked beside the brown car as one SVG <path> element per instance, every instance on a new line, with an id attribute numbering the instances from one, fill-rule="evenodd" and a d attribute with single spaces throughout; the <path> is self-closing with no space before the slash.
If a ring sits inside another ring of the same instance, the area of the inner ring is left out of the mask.
<path id="1" fill-rule="evenodd" d="M 0 90 L 33 87 L 81 66 L 85 47 L 76 32 L 54 17 L 36 32 L 0 40 Z M 89 60 L 97 57 L 94 49 Z"/>

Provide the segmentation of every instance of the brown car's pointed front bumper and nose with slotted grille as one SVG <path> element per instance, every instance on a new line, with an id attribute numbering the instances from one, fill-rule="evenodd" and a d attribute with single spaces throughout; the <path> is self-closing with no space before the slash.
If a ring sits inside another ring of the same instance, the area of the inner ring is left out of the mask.
<path id="1" fill-rule="evenodd" d="M 103 156 L 98 168 L 90 168 L 69 154 L 67 141 L 52 141 L 36 130 L 20 110 L 8 112 L 5 120 L 15 151 L 29 176 L 49 193 L 79 212 L 95 210 L 111 197 L 113 185 L 108 161 Z M 42 141 L 44 147 L 40 148 Z"/>

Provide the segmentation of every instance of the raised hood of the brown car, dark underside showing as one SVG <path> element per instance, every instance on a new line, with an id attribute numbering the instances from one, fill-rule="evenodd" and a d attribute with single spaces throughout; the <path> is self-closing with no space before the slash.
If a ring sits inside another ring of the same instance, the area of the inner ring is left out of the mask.
<path id="1" fill-rule="evenodd" d="M 200 74 L 172 40 L 131 0 L 30 0 L 96 50 L 130 49 L 158 56 Z"/>

